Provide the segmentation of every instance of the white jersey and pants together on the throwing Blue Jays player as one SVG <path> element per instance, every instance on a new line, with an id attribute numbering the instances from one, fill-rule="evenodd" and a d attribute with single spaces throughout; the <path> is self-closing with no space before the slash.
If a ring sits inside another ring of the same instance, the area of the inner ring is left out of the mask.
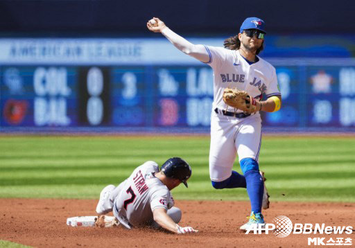
<path id="1" fill-rule="evenodd" d="M 209 175 L 212 181 L 230 177 L 238 154 L 239 161 L 245 158 L 259 160 L 261 148 L 261 118 L 259 112 L 245 118 L 224 116 L 227 109 L 223 102 L 223 90 L 227 87 L 247 91 L 261 100 L 280 96 L 275 68 L 265 60 L 249 64 L 239 50 L 205 46 L 209 64 L 214 70 L 214 103 L 211 114 L 211 146 L 209 151 Z M 214 109 L 220 109 L 218 114 Z M 230 112 L 234 109 L 229 107 Z M 241 110 L 236 113 L 241 113 Z"/>

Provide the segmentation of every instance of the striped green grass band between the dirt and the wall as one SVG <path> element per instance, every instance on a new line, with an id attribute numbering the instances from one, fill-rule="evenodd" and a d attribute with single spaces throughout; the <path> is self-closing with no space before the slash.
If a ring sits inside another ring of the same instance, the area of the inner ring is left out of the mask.
<path id="1" fill-rule="evenodd" d="M 209 137 L 0 137 L 0 197 L 98 198 L 147 160 L 182 157 L 193 168 L 177 199 L 248 200 L 243 188 L 215 190 Z M 264 137 L 260 168 L 272 200 L 355 202 L 355 139 Z M 238 163 L 234 170 L 241 171 Z"/>

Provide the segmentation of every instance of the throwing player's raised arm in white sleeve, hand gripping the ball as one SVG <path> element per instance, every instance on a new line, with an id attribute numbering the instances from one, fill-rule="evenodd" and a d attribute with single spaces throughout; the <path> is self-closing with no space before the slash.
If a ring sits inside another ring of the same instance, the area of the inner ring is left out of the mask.
<path id="1" fill-rule="evenodd" d="M 162 33 L 176 48 L 178 48 L 183 53 L 195 57 L 200 62 L 209 62 L 209 53 L 207 52 L 205 46 L 194 45 L 187 41 L 180 35 L 174 33 L 170 28 L 168 28 L 163 21 L 159 18 L 154 17 L 157 21 L 157 26 L 153 26 L 150 22 L 147 22 L 147 28 L 154 33 Z"/>

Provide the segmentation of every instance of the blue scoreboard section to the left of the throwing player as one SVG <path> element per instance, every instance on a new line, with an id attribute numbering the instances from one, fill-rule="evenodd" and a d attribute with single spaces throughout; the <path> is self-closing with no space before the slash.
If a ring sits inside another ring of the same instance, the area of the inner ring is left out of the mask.
<path id="1" fill-rule="evenodd" d="M 1 126 L 209 126 L 211 69 L 1 67 Z"/>

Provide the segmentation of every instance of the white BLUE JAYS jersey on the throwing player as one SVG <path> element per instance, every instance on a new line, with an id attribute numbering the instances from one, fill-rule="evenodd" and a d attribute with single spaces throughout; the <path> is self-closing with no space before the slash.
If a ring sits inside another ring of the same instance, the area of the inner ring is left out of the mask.
<path id="1" fill-rule="evenodd" d="M 226 109 L 223 102 L 223 90 L 227 87 L 247 91 L 253 98 L 280 96 L 277 87 L 275 67 L 259 58 L 254 64 L 249 64 L 239 53 L 239 50 L 229 50 L 222 47 L 205 46 L 209 53 L 209 66 L 214 69 L 214 109 Z M 232 111 L 232 109 L 231 109 Z M 237 113 L 242 112 L 241 110 Z"/>

